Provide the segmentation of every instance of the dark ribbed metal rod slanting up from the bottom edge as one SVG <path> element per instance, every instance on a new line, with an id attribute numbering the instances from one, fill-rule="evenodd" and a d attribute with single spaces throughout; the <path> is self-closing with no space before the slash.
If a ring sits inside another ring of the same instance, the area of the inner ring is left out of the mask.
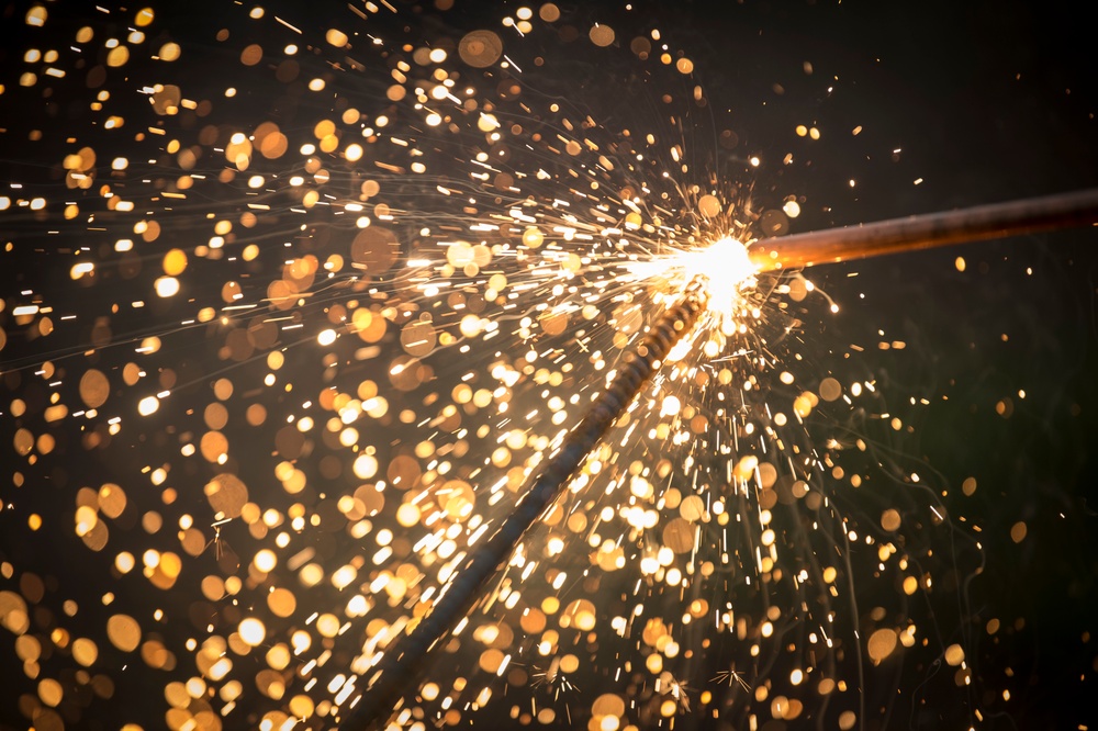
<path id="1" fill-rule="evenodd" d="M 376 728 L 392 716 L 432 649 L 469 614 L 484 585 L 511 558 L 526 531 L 564 492 L 572 474 L 660 368 L 671 348 L 693 329 L 705 303 L 701 282 L 692 282 L 683 300 L 663 313 L 640 344 L 626 353 L 609 386 L 549 458 L 515 511 L 472 552 L 430 612 L 372 670 L 372 682 L 340 723 L 341 731 Z"/>

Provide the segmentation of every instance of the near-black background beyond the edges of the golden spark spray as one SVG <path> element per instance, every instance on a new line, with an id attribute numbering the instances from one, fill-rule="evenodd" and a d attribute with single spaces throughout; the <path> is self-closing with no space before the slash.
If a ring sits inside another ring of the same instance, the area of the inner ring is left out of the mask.
<path id="1" fill-rule="evenodd" d="M 204 40 L 219 25 L 211 18 L 223 9 L 199 4 L 164 9 L 165 26 L 180 42 Z M 477 26 L 501 14 L 491 4 L 459 0 L 446 22 Z M 565 10 L 597 18 L 600 4 Z M 13 102 L 26 7 L 9 3 L 0 13 L 0 82 L 7 87 L 0 95 L 0 179 L 26 179 L 29 170 L 58 159 L 51 147 L 56 140 L 26 145 L 21 133 L 32 122 L 24 114 L 40 126 L 72 123 L 49 117 L 26 97 Z M 86 12 L 71 3 L 48 7 L 57 18 Z M 632 12 L 651 19 L 676 47 L 693 49 L 715 124 L 730 121 L 740 135 L 733 157 L 749 150 L 768 160 L 760 194 L 804 196 L 792 230 L 1098 184 L 1098 58 L 1088 24 L 1066 2 L 746 0 L 638 3 Z M 317 7 L 315 29 L 326 27 L 326 13 L 346 19 L 341 5 Z M 209 70 L 215 68 L 216 61 Z M 589 65 L 586 71 L 597 76 L 598 69 Z M 822 139 L 795 138 L 796 124 L 817 125 Z M 859 125 L 863 131 L 853 136 Z M 796 164 L 783 170 L 777 160 L 787 151 Z M 721 169 L 738 168 L 727 161 Z M 964 271 L 954 265 L 959 256 Z M 0 257 L 5 297 L 26 277 L 42 275 L 10 255 Z M 1088 700 L 1098 690 L 1096 273 L 1093 232 L 811 272 L 841 307 L 806 328 L 809 340 L 815 335 L 833 346 L 833 353 L 818 355 L 820 361 L 833 356 L 838 362 L 848 344 L 864 348 L 864 368 L 877 374 L 893 413 L 914 427 L 895 437 L 896 449 L 926 465 L 959 530 L 983 547 L 986 567 L 966 587 L 972 614 L 953 621 L 974 633 L 973 695 L 986 728 L 1079 728 L 1098 719 Z M 892 340 L 907 347 L 877 348 Z M 14 352 L 9 348 L 0 356 Z M 911 405 L 910 397 L 930 403 Z M 967 477 L 978 484 L 972 496 L 961 492 Z M 10 490 L 8 479 L 0 496 Z M 1016 542 L 1010 530 L 1019 521 L 1027 536 Z M 0 558 L 27 552 L 19 526 L 25 522 L 0 516 Z M 48 565 L 66 559 L 46 551 L 40 571 L 49 573 Z M 984 630 L 993 618 L 1002 626 L 995 636 Z M 11 678 L 0 683 L 0 726 L 25 728 L 15 698 L 26 688 L 16 682 L 10 634 L 0 651 L 0 675 Z M 927 700 L 933 707 L 955 697 Z M 142 699 L 127 696 L 125 702 Z M 959 719 L 954 711 L 941 716 Z M 892 723 L 937 728 L 933 718 L 900 713 Z"/>

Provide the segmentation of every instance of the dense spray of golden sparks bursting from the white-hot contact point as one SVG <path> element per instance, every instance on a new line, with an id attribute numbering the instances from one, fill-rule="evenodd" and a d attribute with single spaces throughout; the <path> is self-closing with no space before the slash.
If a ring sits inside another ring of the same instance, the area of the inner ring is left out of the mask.
<path id="1" fill-rule="evenodd" d="M 4 256 L 43 272 L 0 301 L 0 530 L 64 536 L 96 587 L 0 564 L 29 723 L 122 699 L 127 729 L 336 724 L 697 280 L 704 322 L 393 722 L 849 729 L 863 660 L 928 642 L 967 683 L 962 644 L 905 614 L 932 584 L 906 508 L 860 525 L 837 503 L 865 445 L 813 432 L 873 411 L 872 380 L 814 373 L 798 327 L 826 297 L 747 257 L 804 201 L 694 169 L 682 117 L 604 124 L 530 80 L 583 45 L 701 106 L 658 30 L 546 3 L 402 35 L 411 11 L 367 2 L 314 37 L 227 5 L 210 50 L 155 8 L 76 12 L 29 5 L 0 87 L 82 125 L 9 130 L 61 154 L 0 195 Z M 859 610 L 852 544 L 897 606 Z M 154 677 L 149 719 L 125 698 Z"/>

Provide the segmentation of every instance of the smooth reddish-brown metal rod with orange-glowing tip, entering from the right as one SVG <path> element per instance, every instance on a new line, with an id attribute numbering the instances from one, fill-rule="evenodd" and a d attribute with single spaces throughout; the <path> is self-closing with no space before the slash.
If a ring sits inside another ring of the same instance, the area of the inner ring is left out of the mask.
<path id="1" fill-rule="evenodd" d="M 768 238 L 749 256 L 761 271 L 773 271 L 1095 223 L 1098 189 L 1089 189 Z"/>

